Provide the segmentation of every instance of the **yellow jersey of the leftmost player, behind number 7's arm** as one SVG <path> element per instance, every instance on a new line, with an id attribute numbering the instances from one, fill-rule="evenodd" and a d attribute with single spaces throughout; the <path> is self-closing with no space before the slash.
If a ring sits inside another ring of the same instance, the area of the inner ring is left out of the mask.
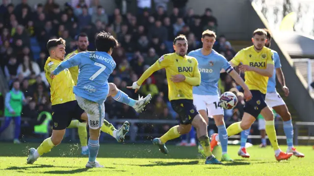
<path id="1" fill-rule="evenodd" d="M 49 57 L 44 67 L 46 79 L 50 84 L 52 105 L 76 100 L 73 93 L 74 82 L 68 69 L 61 71 L 55 78 L 50 78 L 51 71 L 60 63 L 61 61 Z"/>

